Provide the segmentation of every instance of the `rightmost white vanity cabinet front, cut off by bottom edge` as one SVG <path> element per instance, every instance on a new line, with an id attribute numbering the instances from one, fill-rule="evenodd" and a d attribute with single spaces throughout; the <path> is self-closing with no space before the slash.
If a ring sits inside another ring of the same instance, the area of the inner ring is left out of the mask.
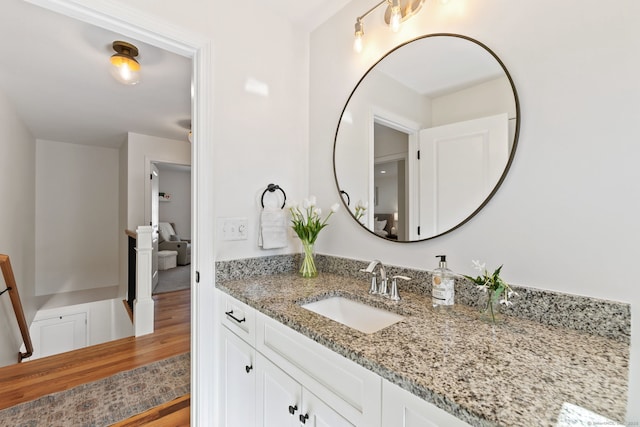
<path id="1" fill-rule="evenodd" d="M 382 427 L 470 427 L 395 384 L 382 382 Z"/>

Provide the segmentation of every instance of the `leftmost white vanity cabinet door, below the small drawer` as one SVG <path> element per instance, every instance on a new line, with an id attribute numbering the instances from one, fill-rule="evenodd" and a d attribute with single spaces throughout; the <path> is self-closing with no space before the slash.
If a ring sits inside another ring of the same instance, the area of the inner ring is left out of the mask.
<path id="1" fill-rule="evenodd" d="M 223 413 L 227 427 L 255 425 L 255 350 L 227 328 L 222 330 Z"/>

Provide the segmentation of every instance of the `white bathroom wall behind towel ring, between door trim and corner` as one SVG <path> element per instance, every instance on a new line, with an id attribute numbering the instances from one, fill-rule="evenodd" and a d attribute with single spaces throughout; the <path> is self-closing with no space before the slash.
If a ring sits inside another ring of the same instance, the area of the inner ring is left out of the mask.
<path id="1" fill-rule="evenodd" d="M 247 240 L 200 236 L 211 238 L 216 259 L 299 251 L 294 240 L 288 248 L 260 249 L 257 226 L 260 195 L 269 183 L 280 185 L 290 200 L 309 195 L 307 34 L 261 0 L 115 1 L 213 42 L 213 138 L 204 142 L 214 145 L 214 157 L 207 159 L 216 177 L 211 218 L 245 217 L 249 223 Z M 268 95 L 245 90 L 249 79 L 265 83 Z M 335 200 L 318 202 L 328 208 Z"/>

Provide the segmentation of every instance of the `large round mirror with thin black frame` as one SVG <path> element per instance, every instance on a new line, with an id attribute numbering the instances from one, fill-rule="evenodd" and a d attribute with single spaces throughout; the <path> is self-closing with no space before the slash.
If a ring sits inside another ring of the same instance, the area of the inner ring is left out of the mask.
<path id="1" fill-rule="evenodd" d="M 372 234 L 432 239 L 497 191 L 519 129 L 515 86 L 489 48 L 456 34 L 420 37 L 386 54 L 351 92 L 334 142 L 336 185 Z"/>

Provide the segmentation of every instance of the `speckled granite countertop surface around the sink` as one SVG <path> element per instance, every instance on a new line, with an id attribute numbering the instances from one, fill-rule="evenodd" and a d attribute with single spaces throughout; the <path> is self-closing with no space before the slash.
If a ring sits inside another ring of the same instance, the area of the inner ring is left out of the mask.
<path id="1" fill-rule="evenodd" d="M 402 283 L 396 303 L 369 295 L 366 277 L 281 274 L 216 286 L 471 425 L 624 423 L 628 343 L 510 316 L 493 325 L 461 304 L 434 310 Z M 405 319 L 365 334 L 300 306 L 327 295 Z"/>

